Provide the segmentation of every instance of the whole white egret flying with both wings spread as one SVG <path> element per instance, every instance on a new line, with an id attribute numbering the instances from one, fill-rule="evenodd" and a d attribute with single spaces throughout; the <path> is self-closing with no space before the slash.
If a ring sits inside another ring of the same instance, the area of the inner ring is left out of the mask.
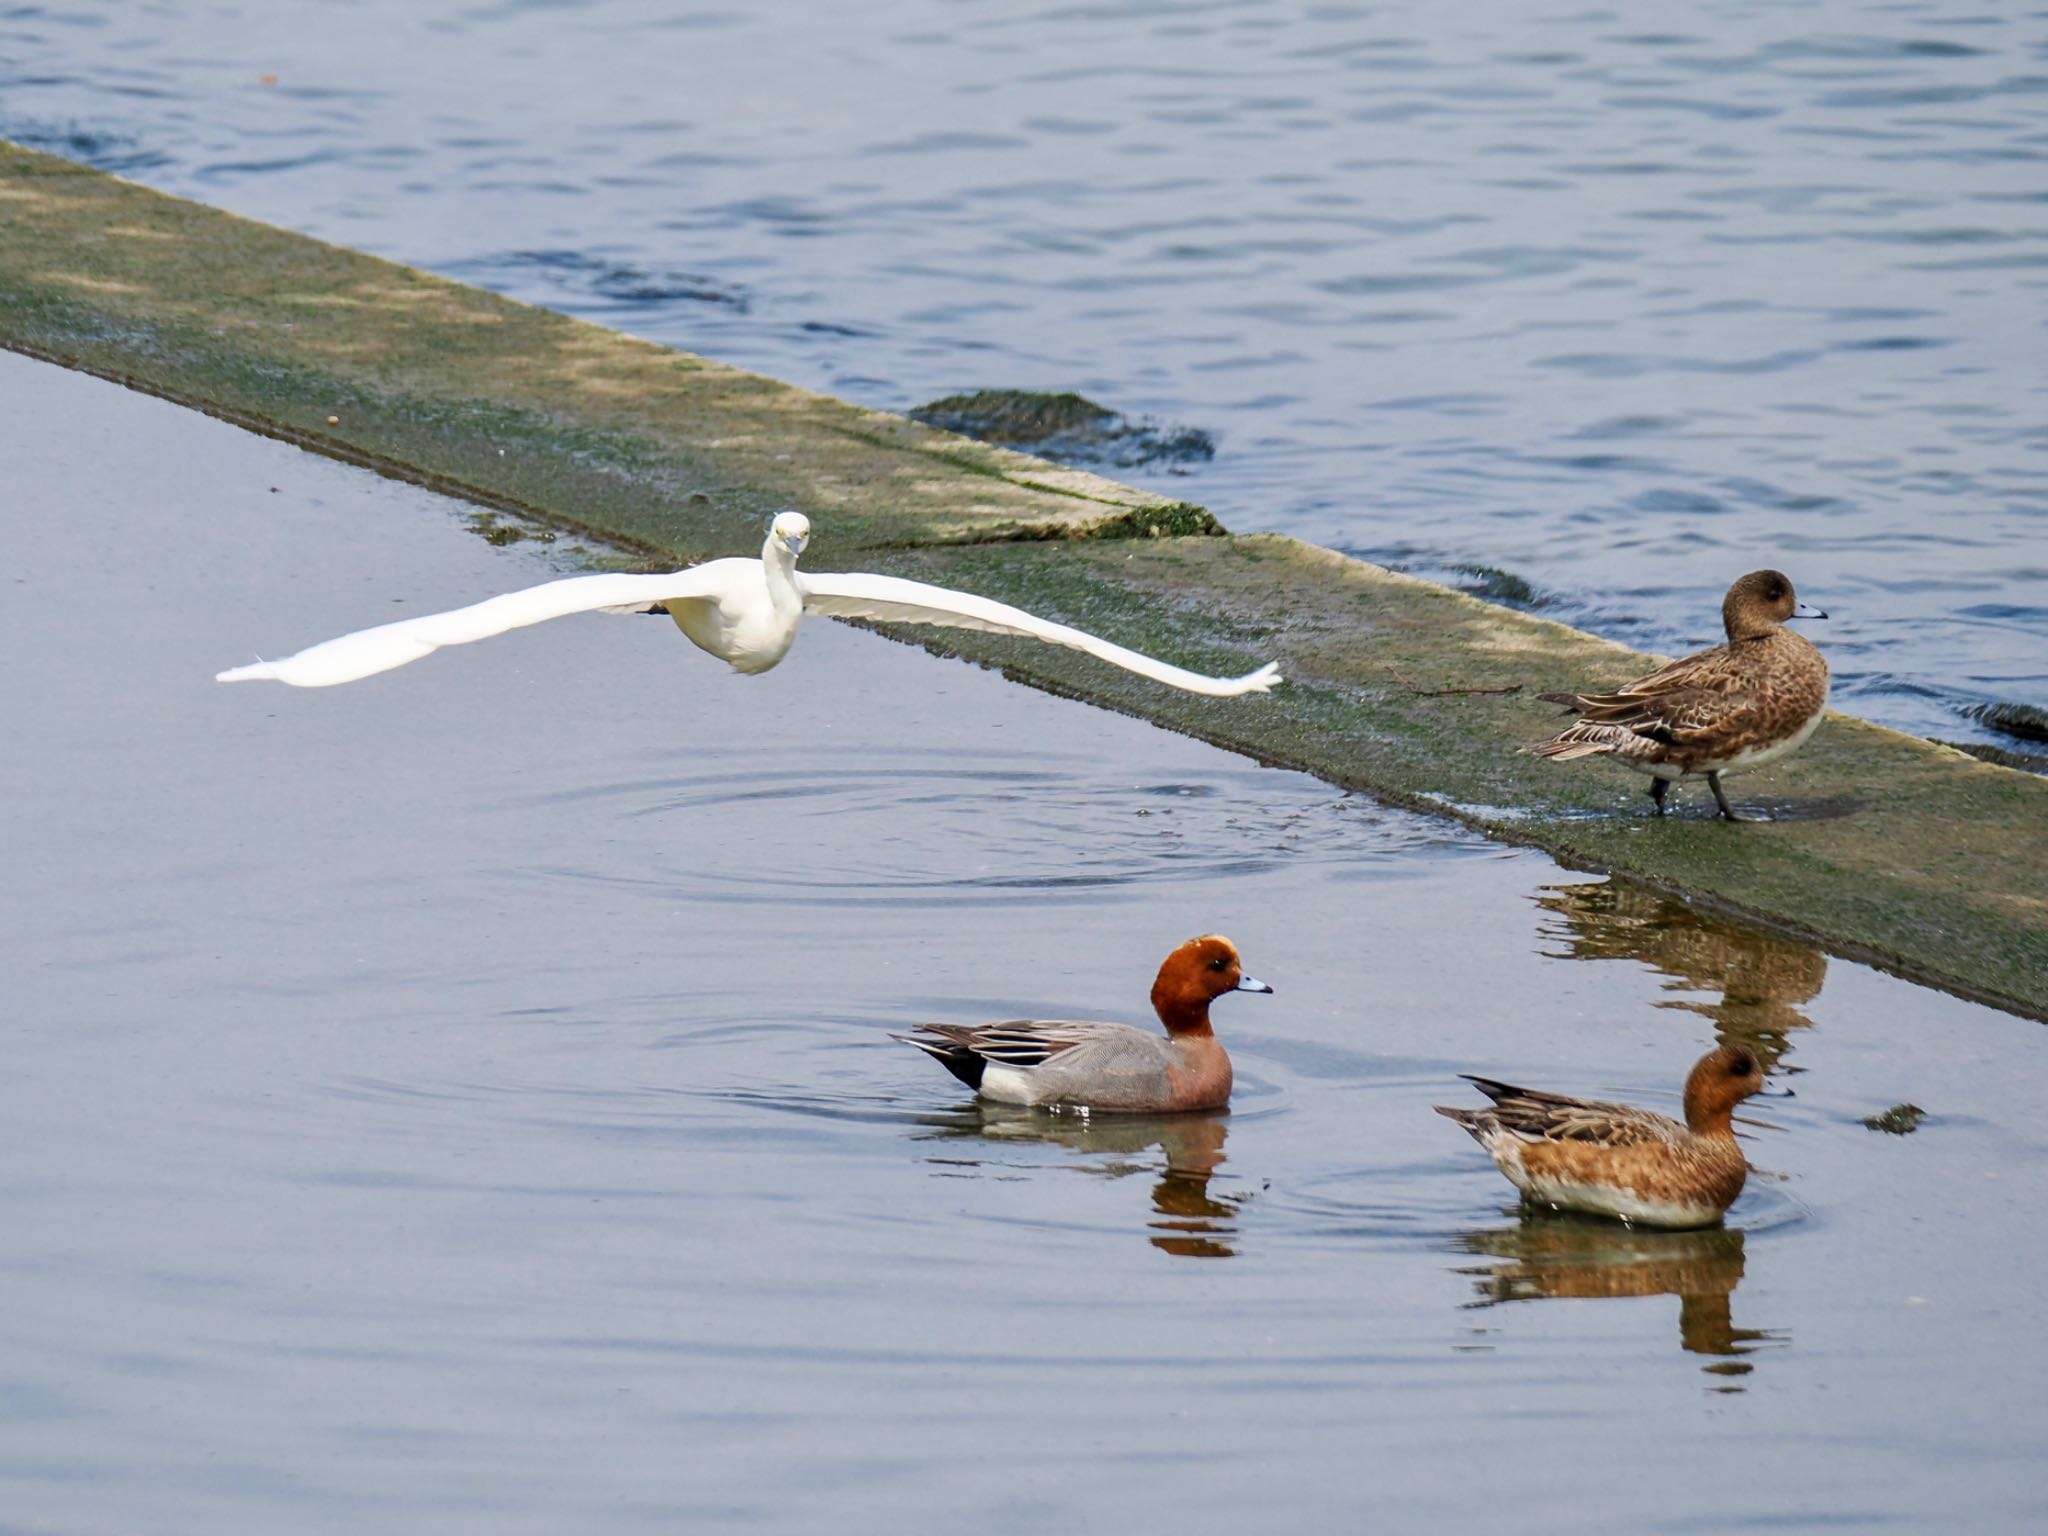
<path id="1" fill-rule="evenodd" d="M 598 610 L 668 608 L 676 627 L 705 651 L 735 672 L 766 672 L 797 641 L 797 625 L 807 612 L 834 618 L 874 618 L 891 625 L 944 625 L 981 629 L 995 635 L 1024 635 L 1051 645 L 1067 645 L 1137 672 L 1171 688 L 1196 694 L 1264 692 L 1280 682 L 1280 668 L 1268 664 L 1241 678 L 1210 678 L 1112 645 L 1079 629 L 1055 625 L 1008 602 L 952 592 L 899 575 L 827 573 L 803 575 L 797 555 L 811 537 L 801 512 L 782 512 L 768 530 L 760 559 L 713 559 L 666 575 L 571 575 L 561 582 L 506 592 L 467 608 L 401 618 L 375 629 L 309 645 L 281 662 L 256 662 L 217 674 L 219 682 L 289 682 L 295 688 L 328 688 L 377 672 L 418 662 L 442 645 L 504 635 L 549 618 Z"/>

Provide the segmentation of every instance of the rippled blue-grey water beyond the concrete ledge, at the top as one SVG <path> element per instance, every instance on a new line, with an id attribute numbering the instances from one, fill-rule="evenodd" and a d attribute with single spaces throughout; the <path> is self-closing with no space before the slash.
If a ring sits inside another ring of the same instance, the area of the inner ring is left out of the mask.
<path id="1" fill-rule="evenodd" d="M 1233 528 L 1653 649 L 1784 565 L 1847 709 L 2048 705 L 2040 4 L 68 0 L 0 133 L 874 406 L 1083 389 Z"/>

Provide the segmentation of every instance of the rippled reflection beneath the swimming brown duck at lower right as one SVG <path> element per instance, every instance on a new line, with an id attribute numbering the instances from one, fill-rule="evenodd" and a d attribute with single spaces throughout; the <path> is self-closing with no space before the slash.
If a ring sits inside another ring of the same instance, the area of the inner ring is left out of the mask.
<path id="1" fill-rule="evenodd" d="M 1712 1356 L 1704 1370 L 1716 1391 L 1743 1391 L 1747 1358 L 1782 1346 L 1784 1329 L 1737 1327 L 1735 1288 L 1743 1282 L 1745 1233 L 1708 1227 L 1659 1233 L 1571 1214 L 1526 1214 L 1511 1227 L 1458 1233 L 1458 1253 L 1491 1260 L 1460 1268 L 1477 1298 L 1468 1307 L 1509 1300 L 1602 1300 L 1612 1296 L 1677 1296 L 1677 1341 L 1688 1354 Z"/>

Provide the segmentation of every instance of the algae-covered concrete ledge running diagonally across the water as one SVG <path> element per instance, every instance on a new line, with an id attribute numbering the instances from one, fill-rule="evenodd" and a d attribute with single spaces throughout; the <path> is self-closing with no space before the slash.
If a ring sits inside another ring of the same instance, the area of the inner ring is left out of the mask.
<path id="1" fill-rule="evenodd" d="M 1655 821 L 1642 780 L 1520 752 L 1559 719 L 1536 694 L 1651 657 L 4 143 L 0 344 L 649 559 L 750 551 L 762 514 L 795 504 L 819 520 L 819 569 L 938 580 L 1204 672 L 1280 657 L 1278 692 L 1200 698 L 1044 645 L 915 633 L 2048 1018 L 2048 780 L 2030 774 L 1835 715 L 1737 780 L 1778 821 L 1733 827 L 1694 795 Z"/>

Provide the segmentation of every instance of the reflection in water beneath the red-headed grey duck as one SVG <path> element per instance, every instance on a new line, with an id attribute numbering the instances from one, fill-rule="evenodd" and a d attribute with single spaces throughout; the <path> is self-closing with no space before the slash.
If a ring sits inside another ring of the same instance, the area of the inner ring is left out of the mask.
<path id="1" fill-rule="evenodd" d="M 1081 1153 L 1087 1161 L 1069 1163 L 1077 1174 L 1106 1180 L 1151 1176 L 1147 1241 L 1161 1253 L 1227 1260 L 1237 1253 L 1237 1214 L 1251 1198 L 1249 1192 L 1210 1190 L 1210 1180 L 1227 1161 L 1227 1114 L 1053 1114 L 977 1102 L 926 1120 L 918 1141 L 944 1145 L 930 1155 L 934 1163 L 1001 1165 L 997 1147 L 1044 1143 Z M 977 1149 L 987 1149 L 987 1155 Z"/>

